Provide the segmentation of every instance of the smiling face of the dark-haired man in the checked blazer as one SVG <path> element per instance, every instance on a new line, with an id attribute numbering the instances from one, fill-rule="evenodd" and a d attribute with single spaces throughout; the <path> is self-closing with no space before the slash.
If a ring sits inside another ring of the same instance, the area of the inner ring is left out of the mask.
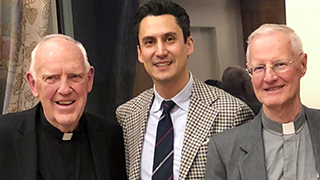
<path id="1" fill-rule="evenodd" d="M 184 43 L 183 33 L 172 15 L 147 16 L 139 30 L 138 59 L 151 76 L 155 87 L 184 86 L 189 80 L 188 56 L 193 39 Z"/>

